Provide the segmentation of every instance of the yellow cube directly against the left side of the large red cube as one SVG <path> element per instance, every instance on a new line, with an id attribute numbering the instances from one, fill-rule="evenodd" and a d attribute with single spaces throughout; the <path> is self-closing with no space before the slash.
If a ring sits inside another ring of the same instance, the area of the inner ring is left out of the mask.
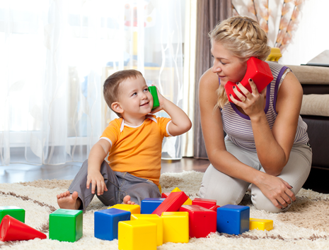
<path id="1" fill-rule="evenodd" d="M 187 212 L 163 212 L 163 243 L 187 243 L 188 213 Z"/>

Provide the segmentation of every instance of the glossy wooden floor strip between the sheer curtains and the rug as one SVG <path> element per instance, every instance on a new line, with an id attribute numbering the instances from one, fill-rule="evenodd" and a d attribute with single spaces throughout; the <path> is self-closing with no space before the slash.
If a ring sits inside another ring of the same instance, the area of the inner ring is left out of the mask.
<path id="1" fill-rule="evenodd" d="M 161 173 L 195 170 L 206 171 L 209 160 L 183 157 L 182 160 L 161 160 Z M 0 166 L 0 183 L 34 181 L 36 179 L 73 179 L 79 171 L 81 162 L 68 162 L 65 165 L 25 165 L 11 164 Z"/>

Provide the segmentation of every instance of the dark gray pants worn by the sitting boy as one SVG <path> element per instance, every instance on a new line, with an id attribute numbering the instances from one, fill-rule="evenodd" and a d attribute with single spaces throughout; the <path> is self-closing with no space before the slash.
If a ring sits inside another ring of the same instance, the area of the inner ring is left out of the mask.
<path id="1" fill-rule="evenodd" d="M 70 194 L 74 191 L 78 192 L 79 198 L 82 201 L 79 209 L 85 211 L 89 203 L 93 199 L 95 194 L 91 194 L 91 186 L 89 189 L 86 187 L 88 174 L 88 160 L 85 160 L 82 164 L 76 177 L 69 186 Z M 158 190 L 158 186 L 148 179 L 135 177 L 127 172 L 113 172 L 108 165 L 108 162 L 103 161 L 100 165 L 100 174 L 104 177 L 104 182 L 108 191 L 104 191 L 104 194 L 96 196 L 103 202 L 105 206 L 113 206 L 118 203 L 122 203 L 123 198 L 129 195 L 130 201 L 134 201 L 138 205 L 141 205 L 141 201 L 144 198 L 160 198 L 161 194 Z M 97 189 L 97 188 L 96 188 Z"/>

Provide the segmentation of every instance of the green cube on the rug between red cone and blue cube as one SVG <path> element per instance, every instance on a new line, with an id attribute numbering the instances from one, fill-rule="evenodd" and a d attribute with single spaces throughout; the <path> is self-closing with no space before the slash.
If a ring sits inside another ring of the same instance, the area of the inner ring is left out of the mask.
<path id="1" fill-rule="evenodd" d="M 82 210 L 57 209 L 49 215 L 49 239 L 76 242 L 82 237 Z"/>

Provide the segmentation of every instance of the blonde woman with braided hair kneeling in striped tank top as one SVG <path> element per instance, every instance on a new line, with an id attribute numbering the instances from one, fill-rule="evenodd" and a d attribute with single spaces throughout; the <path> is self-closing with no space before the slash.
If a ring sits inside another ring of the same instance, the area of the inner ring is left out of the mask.
<path id="1" fill-rule="evenodd" d="M 251 56 L 267 58 L 267 36 L 255 20 L 237 16 L 219 23 L 209 37 L 214 66 L 200 78 L 199 101 L 211 165 L 199 196 L 237 205 L 250 186 L 255 208 L 287 210 L 311 169 L 307 126 L 299 116 L 301 84 L 286 66 L 268 62 L 274 80 L 267 88 L 258 93 L 249 79 L 252 93 L 238 84 L 233 91 L 241 101 L 231 96 L 229 102 L 224 85 L 242 80 Z"/>

